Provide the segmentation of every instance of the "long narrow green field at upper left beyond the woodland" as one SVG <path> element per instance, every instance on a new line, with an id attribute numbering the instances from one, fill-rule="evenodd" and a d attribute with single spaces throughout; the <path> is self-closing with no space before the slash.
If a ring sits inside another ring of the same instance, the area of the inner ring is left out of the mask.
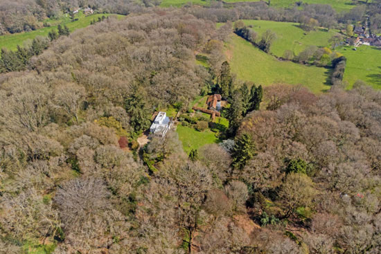
<path id="1" fill-rule="evenodd" d="M 98 17 L 102 17 L 103 15 L 109 16 L 109 14 L 95 14 L 90 16 L 80 15 L 78 16 L 78 21 L 71 22 L 68 17 L 64 17 L 61 19 L 61 24 L 66 25 L 71 32 L 78 28 L 84 28 L 90 25 L 90 22 L 93 19 L 98 19 Z M 118 15 L 118 18 L 124 17 L 123 15 Z M 23 45 L 25 42 L 28 42 L 34 39 L 37 36 L 47 36 L 48 33 L 55 29 L 57 30 L 58 22 L 57 21 L 49 21 L 49 23 L 56 24 L 56 26 L 50 26 L 45 28 L 40 28 L 38 30 L 24 32 L 24 33 L 15 33 L 12 35 L 1 35 L 0 36 L 0 48 L 7 48 L 10 50 L 15 50 L 17 45 Z"/>

